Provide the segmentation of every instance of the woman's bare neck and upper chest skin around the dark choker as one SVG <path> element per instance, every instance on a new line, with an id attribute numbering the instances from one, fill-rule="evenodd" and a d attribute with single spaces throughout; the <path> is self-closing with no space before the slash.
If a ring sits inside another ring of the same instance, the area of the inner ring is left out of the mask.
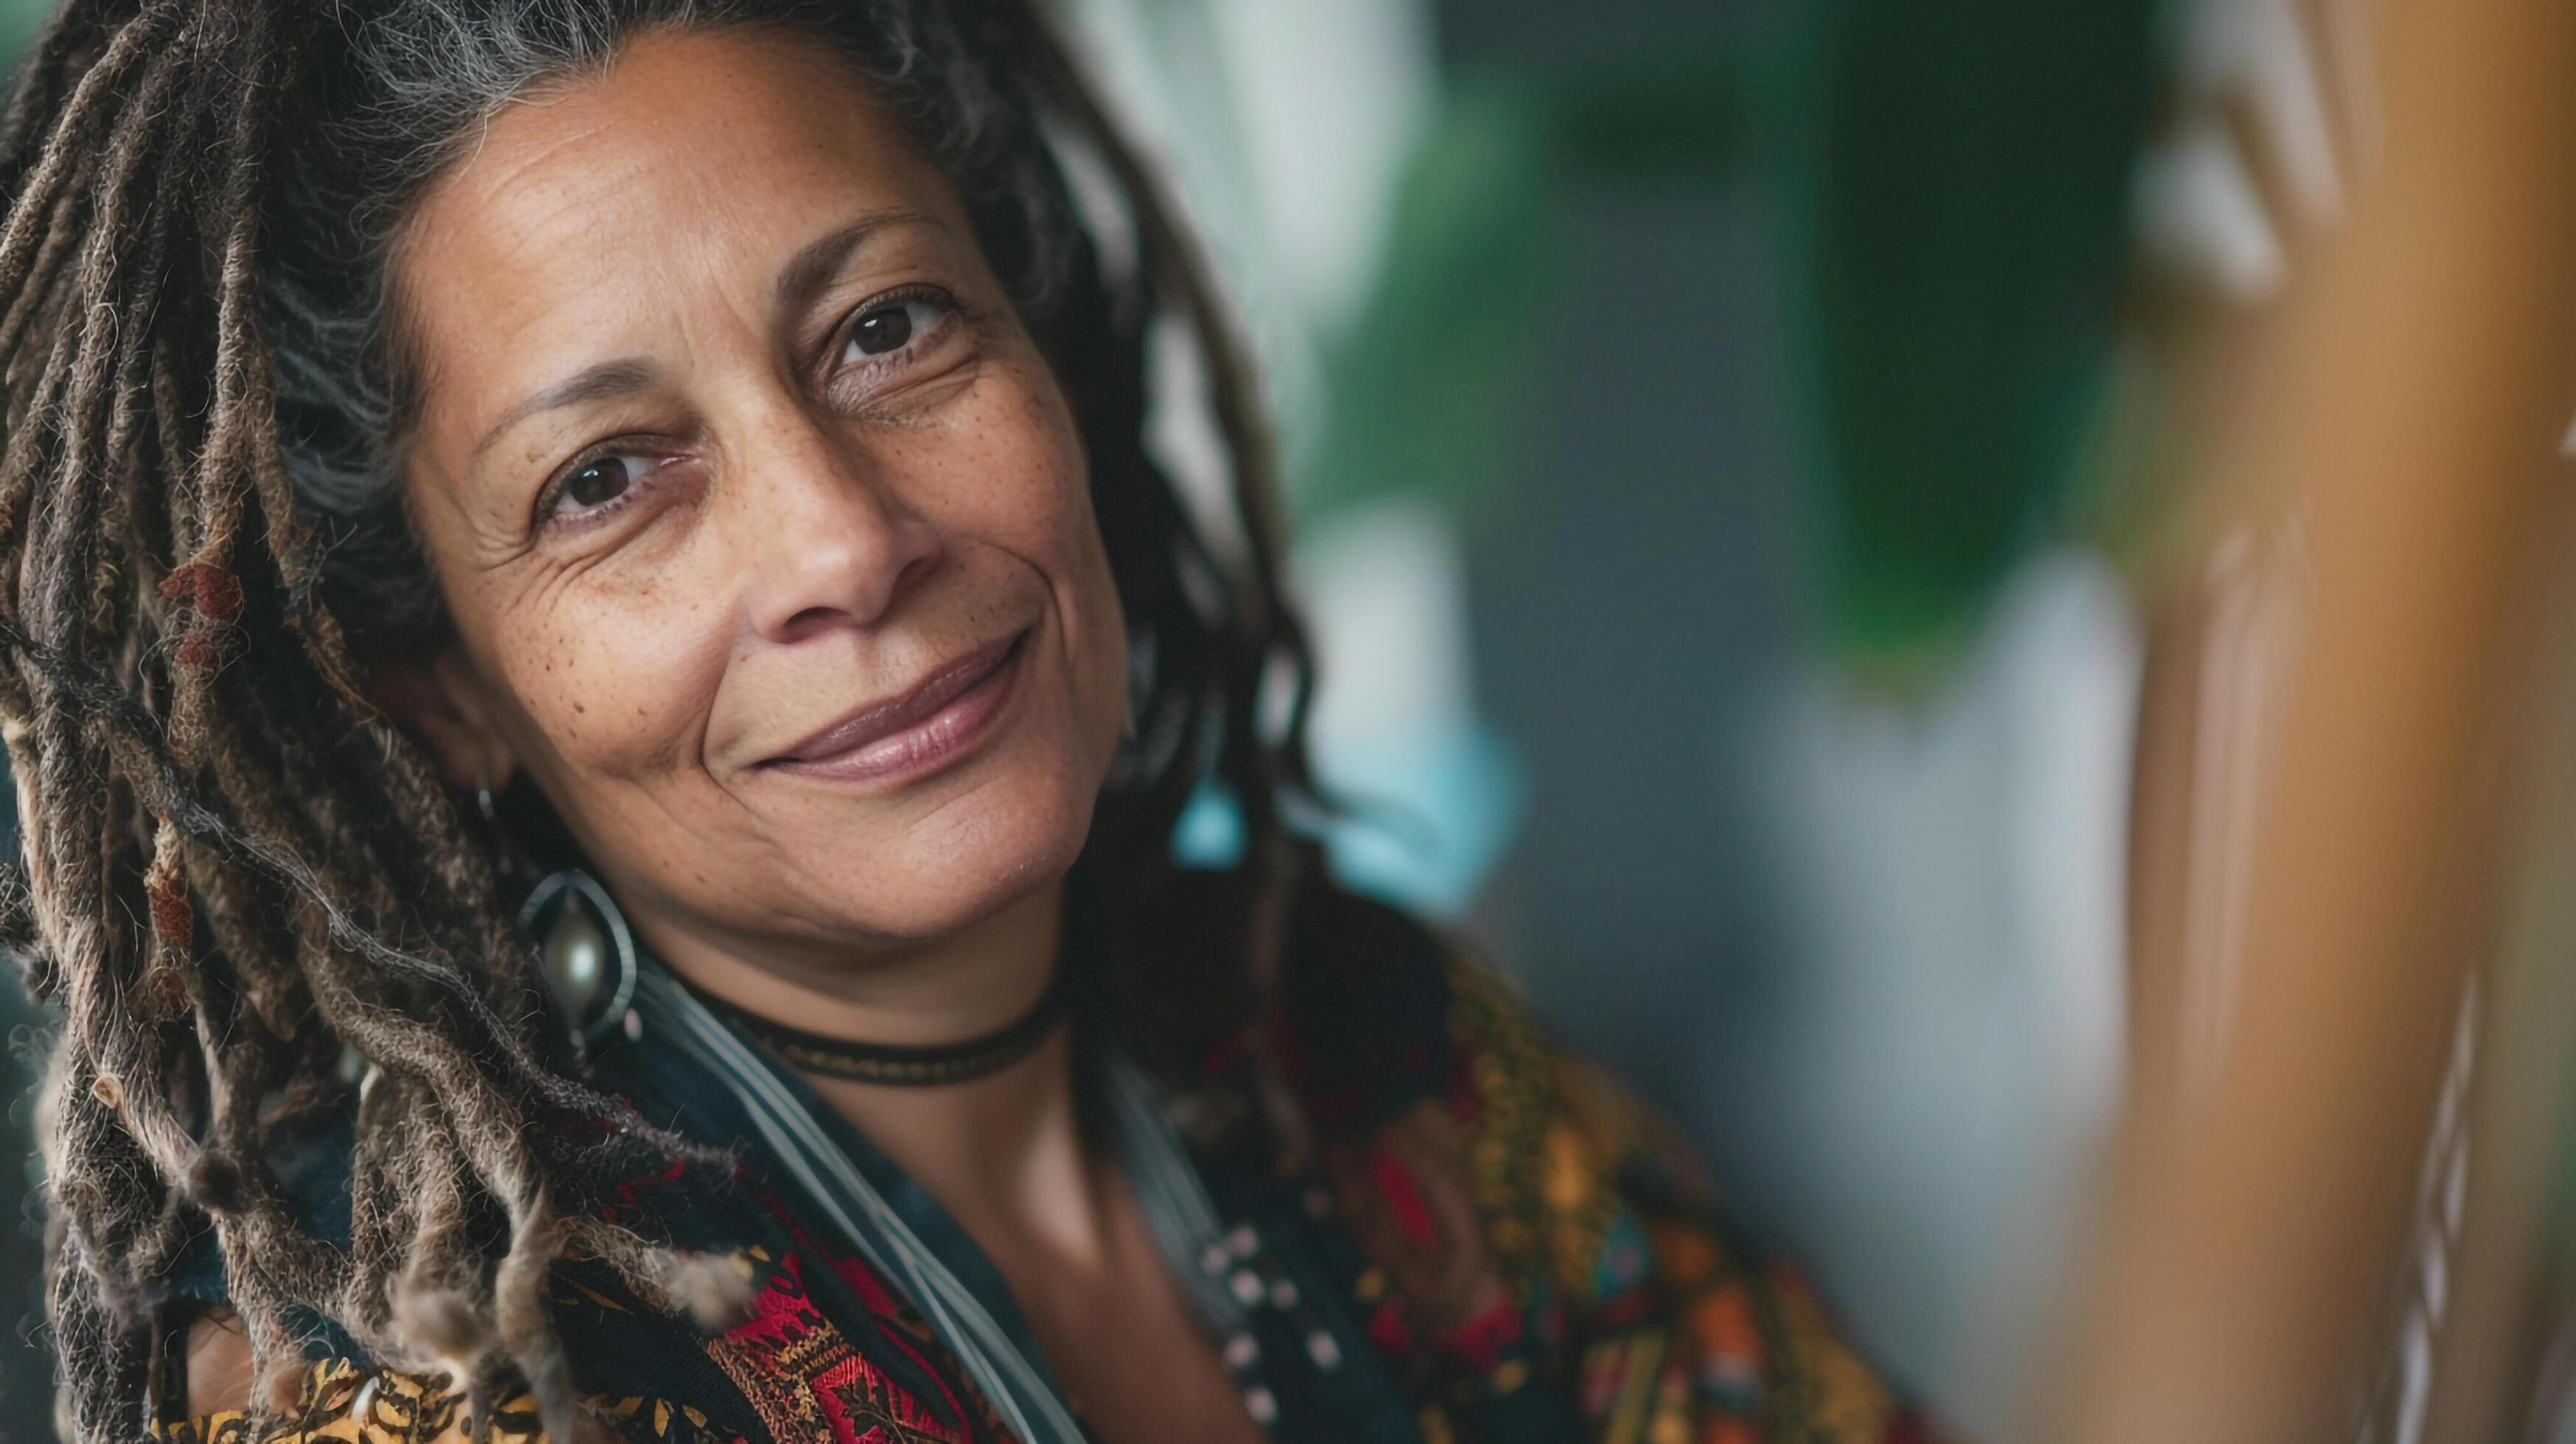
<path id="1" fill-rule="evenodd" d="M 940 1045 L 1038 1004 L 1064 947 L 1064 885 L 953 937 L 837 965 L 636 921 L 665 965 L 739 1009 L 850 1042 Z M 1108 1179 L 1084 1148 L 1069 1030 L 961 1084 L 809 1084 L 987 1248 L 1038 1246 L 1066 1264 L 1100 1254 Z"/>

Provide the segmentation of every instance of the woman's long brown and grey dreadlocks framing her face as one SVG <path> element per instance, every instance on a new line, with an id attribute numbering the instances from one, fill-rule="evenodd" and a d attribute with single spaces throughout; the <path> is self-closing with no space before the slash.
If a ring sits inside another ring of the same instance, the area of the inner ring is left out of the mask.
<path id="1" fill-rule="evenodd" d="M 1074 402 L 1128 615 L 1139 726 L 1095 873 L 1149 893 L 1213 780 L 1252 839 L 1231 976 L 1257 999 L 1278 968 L 1311 867 L 1283 808 L 1314 788 L 1270 445 L 1180 221 L 1028 0 L 64 0 L 0 113 L 0 736 L 23 813 L 0 945 L 62 1009 L 46 1295 L 80 1441 L 160 1405 L 165 1277 L 209 1228 L 255 1411 L 319 1315 L 479 1400 L 523 1382 L 554 1439 L 549 1264 L 580 1251 L 647 1295 L 683 1266 L 598 1205 L 690 1145 L 580 1081 L 497 837 L 363 690 L 443 625 L 399 504 L 417 376 L 392 237 L 492 111 L 654 26 L 832 41 L 956 180 Z M 1066 157 L 1113 198 L 1077 201 Z M 1113 224 L 1131 257 L 1103 255 Z M 1164 311 L 1211 378 L 1221 517 L 1144 443 Z M 353 1115 L 345 1241 L 273 1166 L 327 1109 Z"/>

